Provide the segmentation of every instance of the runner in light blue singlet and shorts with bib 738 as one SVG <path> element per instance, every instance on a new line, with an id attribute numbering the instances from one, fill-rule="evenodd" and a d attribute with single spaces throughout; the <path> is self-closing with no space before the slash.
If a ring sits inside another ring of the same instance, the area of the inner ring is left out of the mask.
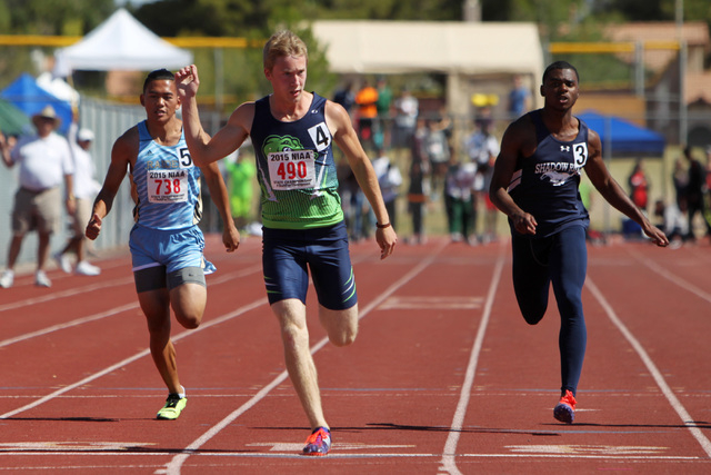
<path id="1" fill-rule="evenodd" d="M 197 226 L 202 202 L 201 179 L 222 219 L 222 244 L 237 250 L 240 235 L 230 214 L 227 186 L 217 165 L 198 168 L 186 145 L 176 77 L 167 69 L 151 71 L 140 96 L 146 120 L 129 128 L 111 148 L 111 162 L 93 202 L 86 235 L 97 239 L 126 171 L 131 174 L 136 200 L 129 246 L 140 308 L 146 316 L 151 357 L 168 388 L 158 419 L 176 419 L 186 408 L 186 388 L 178 377 L 171 340 L 171 315 L 186 329 L 200 326 L 208 290 L 204 237 Z"/>

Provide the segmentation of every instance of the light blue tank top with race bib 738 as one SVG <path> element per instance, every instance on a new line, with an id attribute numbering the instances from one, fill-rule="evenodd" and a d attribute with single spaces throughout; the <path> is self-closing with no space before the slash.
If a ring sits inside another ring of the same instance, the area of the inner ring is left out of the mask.
<path id="1" fill-rule="evenodd" d="M 190 157 L 184 132 L 177 145 L 166 147 L 153 141 L 146 121 L 138 123 L 138 130 L 139 151 L 131 170 L 138 192 L 136 222 L 152 229 L 197 225 L 202 217 L 201 172 Z"/>

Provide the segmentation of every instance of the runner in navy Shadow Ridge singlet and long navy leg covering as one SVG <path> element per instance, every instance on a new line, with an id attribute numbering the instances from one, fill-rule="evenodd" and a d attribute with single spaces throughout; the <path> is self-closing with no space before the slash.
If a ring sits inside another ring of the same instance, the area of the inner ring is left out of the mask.
<path id="1" fill-rule="evenodd" d="M 491 201 L 509 217 L 513 289 L 527 323 L 535 325 L 543 318 L 553 286 L 561 315 L 562 377 L 553 416 L 568 424 L 574 419 L 587 344 L 582 286 L 589 217 L 578 192 L 581 171 L 584 169 L 602 197 L 637 221 L 653 243 L 669 244 L 610 175 L 602 160 L 600 136 L 573 117 L 578 81 L 578 71 L 565 61 L 545 69 L 543 108 L 515 120 L 504 132 L 489 190 Z"/>

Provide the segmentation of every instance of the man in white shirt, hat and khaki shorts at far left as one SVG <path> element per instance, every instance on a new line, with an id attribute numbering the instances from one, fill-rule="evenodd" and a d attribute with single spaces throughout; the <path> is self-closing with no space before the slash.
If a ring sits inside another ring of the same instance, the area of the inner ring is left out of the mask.
<path id="1" fill-rule="evenodd" d="M 39 287 L 52 285 L 44 274 L 44 265 L 49 256 L 50 238 L 60 224 L 62 180 L 67 191 L 67 211 L 70 215 L 74 212 L 74 167 L 71 151 L 67 139 L 54 132 L 60 119 L 54 108 L 47 106 L 32 116 L 32 122 L 37 128 L 37 135 L 20 138 L 12 150 L 4 139 L 0 138 L 0 154 L 4 165 L 8 168 L 20 166 L 20 188 L 14 196 L 8 265 L 0 276 L 2 288 L 12 287 L 14 265 L 20 255 L 22 240 L 31 230 L 39 234 L 34 284 Z"/>

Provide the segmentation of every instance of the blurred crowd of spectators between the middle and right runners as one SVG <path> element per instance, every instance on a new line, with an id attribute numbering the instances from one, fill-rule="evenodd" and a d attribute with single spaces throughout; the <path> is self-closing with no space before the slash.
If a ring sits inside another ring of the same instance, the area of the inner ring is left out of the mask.
<path id="1" fill-rule="evenodd" d="M 499 154 L 491 112 L 498 97 L 479 96 L 472 98 L 473 117 L 464 125 L 458 118 L 455 125 L 447 108 L 423 110 L 407 87 L 393 93 L 384 77 L 347 82 L 334 93 L 333 101 L 351 115 L 363 148 L 373 158 L 393 225 L 410 230 L 403 234 L 405 243 L 424 243 L 432 227 L 427 217 L 435 214 L 444 217 L 453 243 L 474 246 L 497 240 L 498 212 L 488 189 Z M 530 90 L 514 78 L 507 103 L 509 118 L 528 112 L 531 102 Z M 350 239 L 365 239 L 374 234 L 372 212 L 347 164 L 340 169 Z M 398 216 L 398 202 L 407 204 L 401 214 L 407 211 L 408 226 Z"/>

